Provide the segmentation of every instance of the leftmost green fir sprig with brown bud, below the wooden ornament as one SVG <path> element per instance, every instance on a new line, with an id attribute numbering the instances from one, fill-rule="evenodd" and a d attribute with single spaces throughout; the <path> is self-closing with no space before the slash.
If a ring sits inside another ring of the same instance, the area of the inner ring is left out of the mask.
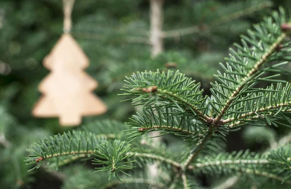
<path id="1" fill-rule="evenodd" d="M 36 164 L 35 168 L 39 168 L 45 159 L 56 158 L 56 169 L 59 166 L 59 157 L 63 157 L 62 161 L 71 161 L 80 157 L 90 156 L 96 145 L 105 139 L 96 137 L 94 133 L 84 131 L 65 132 L 44 138 L 42 141 L 32 144 L 32 149 L 28 149 L 32 155 L 25 160 L 27 164 Z M 68 156 L 73 155 L 73 156 Z"/>

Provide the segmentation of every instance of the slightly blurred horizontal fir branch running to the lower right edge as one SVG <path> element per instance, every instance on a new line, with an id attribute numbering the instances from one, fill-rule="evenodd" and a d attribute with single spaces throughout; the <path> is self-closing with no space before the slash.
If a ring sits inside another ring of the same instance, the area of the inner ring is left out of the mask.
<path id="1" fill-rule="evenodd" d="M 284 147 L 289 149 L 290 146 Z M 291 181 L 286 181 L 291 173 L 290 156 L 291 154 L 286 154 L 286 149 L 283 149 L 283 147 L 274 150 L 269 155 L 260 155 L 249 151 L 244 153 L 241 151 L 237 154 L 235 152 L 231 154 L 221 153 L 216 157 L 198 159 L 197 163 L 192 164 L 188 169 L 193 170 L 194 173 L 202 172 L 206 174 L 253 173 L 291 184 Z M 278 173 L 286 173 L 285 178 L 278 176 Z"/>

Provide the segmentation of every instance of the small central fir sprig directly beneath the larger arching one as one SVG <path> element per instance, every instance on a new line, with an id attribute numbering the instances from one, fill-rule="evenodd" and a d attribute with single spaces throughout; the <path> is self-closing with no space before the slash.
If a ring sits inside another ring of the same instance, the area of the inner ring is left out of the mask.
<path id="1" fill-rule="evenodd" d="M 136 139 L 141 135 L 151 131 L 161 131 L 161 135 L 174 133 L 183 136 L 184 139 L 196 140 L 199 134 L 203 134 L 207 127 L 193 120 L 187 112 L 180 112 L 176 108 L 167 108 L 155 105 L 141 110 L 137 115 L 133 115 L 127 123 L 132 129 L 127 136 Z"/>

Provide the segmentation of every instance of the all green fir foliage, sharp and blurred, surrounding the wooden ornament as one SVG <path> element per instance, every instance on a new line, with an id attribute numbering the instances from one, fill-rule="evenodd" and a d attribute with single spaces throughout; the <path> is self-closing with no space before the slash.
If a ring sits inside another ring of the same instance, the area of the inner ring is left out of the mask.
<path id="1" fill-rule="evenodd" d="M 288 188 L 291 44 L 280 25 L 289 17 L 280 9 L 247 31 L 279 4 L 290 1 L 165 1 L 164 52 L 151 58 L 148 0 L 76 0 L 72 35 L 109 111 L 73 130 L 31 115 L 42 59 L 62 33 L 61 2 L 2 0 L 1 187 Z M 130 101 L 144 108 L 134 114 Z M 239 129 L 243 139 L 232 137 Z M 152 131 L 162 141 L 147 139 Z"/>

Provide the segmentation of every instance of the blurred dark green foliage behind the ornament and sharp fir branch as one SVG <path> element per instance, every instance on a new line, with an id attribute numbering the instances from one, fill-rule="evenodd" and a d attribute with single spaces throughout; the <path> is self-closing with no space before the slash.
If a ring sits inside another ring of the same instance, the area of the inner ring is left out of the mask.
<path id="1" fill-rule="evenodd" d="M 122 97 L 117 94 L 125 76 L 135 71 L 179 69 L 201 82 L 205 94 L 209 94 L 212 75 L 220 69 L 218 63 L 224 63 L 228 48 L 278 5 L 288 8 L 291 1 L 165 0 L 164 51 L 152 58 L 149 0 L 75 0 L 72 35 L 90 59 L 86 72 L 99 83 L 95 93 L 109 108 L 104 115 L 83 118 L 83 124 L 104 118 L 128 120 L 135 110 L 129 103 L 119 103 Z M 184 34 L 177 32 L 181 29 Z M 72 129 L 60 127 L 57 118 L 40 119 L 31 114 L 41 95 L 37 86 L 49 73 L 42 60 L 62 32 L 61 0 L 0 1 L 0 186 L 3 189 L 61 186 L 59 174 L 43 176 L 48 173 L 42 169 L 27 173 L 29 167 L 23 160 L 32 142 Z M 272 128 L 264 132 L 245 129 L 242 137 L 241 133 L 230 134 L 229 140 L 236 141 L 236 145 L 227 149 L 258 150 L 285 131 Z M 257 137 L 258 133 L 261 136 Z"/>

